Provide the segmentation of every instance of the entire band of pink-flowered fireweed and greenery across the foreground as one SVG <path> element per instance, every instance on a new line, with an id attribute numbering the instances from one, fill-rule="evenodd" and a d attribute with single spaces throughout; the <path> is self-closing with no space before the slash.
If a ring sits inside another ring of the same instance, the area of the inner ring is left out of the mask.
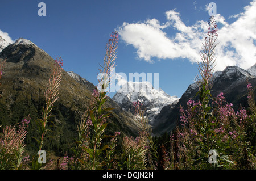
<path id="1" fill-rule="evenodd" d="M 44 93 L 46 104 L 42 117 L 31 120 L 28 115 L 20 123 L 2 128 L 0 133 L 0 169 L 57 169 L 57 170 L 182 170 L 182 169 L 256 169 L 256 105 L 253 87 L 247 84 L 247 110 L 236 112 L 233 104 L 220 92 L 211 94 L 215 49 L 218 45 L 218 29 L 214 17 L 208 23 L 208 33 L 201 48 L 199 74 L 196 77 L 199 91 L 195 99 L 187 100 L 187 107 L 180 106 L 179 124 L 171 134 L 154 137 L 142 103 L 134 102 L 137 137 L 122 132 L 106 131 L 108 117 L 113 108 L 106 106 L 111 86 L 110 70 L 115 67 L 118 48 L 118 32 L 112 32 L 106 44 L 106 54 L 100 65 L 97 89 L 94 89 L 86 111 L 77 126 L 77 136 L 71 153 L 58 158 L 57 162 L 38 159 L 51 127 L 55 127 L 52 109 L 58 100 L 59 86 L 63 76 L 63 60 L 56 58 L 48 87 Z M 0 62 L 0 79 L 5 61 Z M 0 84 L 1 86 L 1 84 Z M 1 89 L 1 87 L 0 87 Z M 37 126 L 38 137 L 35 150 L 28 154 L 26 139 L 31 122 Z M 47 151 L 47 150 L 46 150 Z M 38 153 L 38 154 L 36 154 Z M 212 153 L 214 153 L 212 155 Z M 212 157 L 215 156 L 214 162 Z"/>

